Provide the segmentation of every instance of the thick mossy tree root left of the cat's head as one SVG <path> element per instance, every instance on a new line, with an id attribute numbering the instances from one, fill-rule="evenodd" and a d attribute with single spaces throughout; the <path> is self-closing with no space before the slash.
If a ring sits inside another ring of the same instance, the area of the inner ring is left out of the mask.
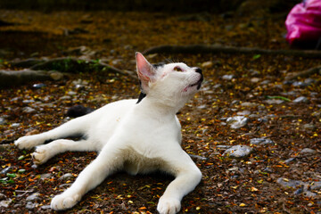
<path id="1" fill-rule="evenodd" d="M 97 71 L 102 74 L 115 73 L 136 79 L 130 70 L 119 70 L 106 63 L 81 60 L 74 57 L 54 59 L 27 59 L 9 62 L 12 68 L 25 70 L 0 70 L 0 87 L 18 86 L 30 81 L 58 80 L 72 73 Z"/>

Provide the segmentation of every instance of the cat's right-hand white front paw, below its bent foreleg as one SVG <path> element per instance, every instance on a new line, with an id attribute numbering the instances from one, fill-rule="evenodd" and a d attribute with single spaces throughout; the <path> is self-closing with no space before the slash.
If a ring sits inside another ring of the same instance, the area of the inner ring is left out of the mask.
<path id="1" fill-rule="evenodd" d="M 157 205 L 157 210 L 160 214 L 175 214 L 181 209 L 181 204 L 176 198 L 161 196 Z"/>

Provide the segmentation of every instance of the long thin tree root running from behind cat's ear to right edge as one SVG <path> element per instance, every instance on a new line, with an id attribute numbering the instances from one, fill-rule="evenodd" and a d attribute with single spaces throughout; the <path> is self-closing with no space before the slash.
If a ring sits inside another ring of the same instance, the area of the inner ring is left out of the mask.
<path id="1" fill-rule="evenodd" d="M 252 53 L 321 58 L 320 51 L 267 50 L 256 47 L 233 47 L 224 45 L 160 45 L 144 51 L 144 54 L 152 53 Z"/>

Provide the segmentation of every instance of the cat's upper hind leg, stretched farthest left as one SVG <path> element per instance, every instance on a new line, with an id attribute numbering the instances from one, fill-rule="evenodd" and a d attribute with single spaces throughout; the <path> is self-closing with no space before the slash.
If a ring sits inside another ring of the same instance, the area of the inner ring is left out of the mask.
<path id="1" fill-rule="evenodd" d="M 47 140 L 61 139 L 69 136 L 84 136 L 88 124 L 90 124 L 87 119 L 86 115 L 77 119 L 71 119 L 62 124 L 62 126 L 53 128 L 50 131 L 34 136 L 22 136 L 14 144 L 19 149 L 31 149 L 39 144 L 44 144 Z"/>

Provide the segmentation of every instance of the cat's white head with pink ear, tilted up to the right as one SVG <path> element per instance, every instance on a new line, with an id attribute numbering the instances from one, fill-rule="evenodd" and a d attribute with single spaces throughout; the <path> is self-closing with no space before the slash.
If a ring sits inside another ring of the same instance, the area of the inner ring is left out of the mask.
<path id="1" fill-rule="evenodd" d="M 152 65 L 142 53 L 136 53 L 136 67 L 145 95 L 178 108 L 202 85 L 202 70 L 182 62 Z"/>

